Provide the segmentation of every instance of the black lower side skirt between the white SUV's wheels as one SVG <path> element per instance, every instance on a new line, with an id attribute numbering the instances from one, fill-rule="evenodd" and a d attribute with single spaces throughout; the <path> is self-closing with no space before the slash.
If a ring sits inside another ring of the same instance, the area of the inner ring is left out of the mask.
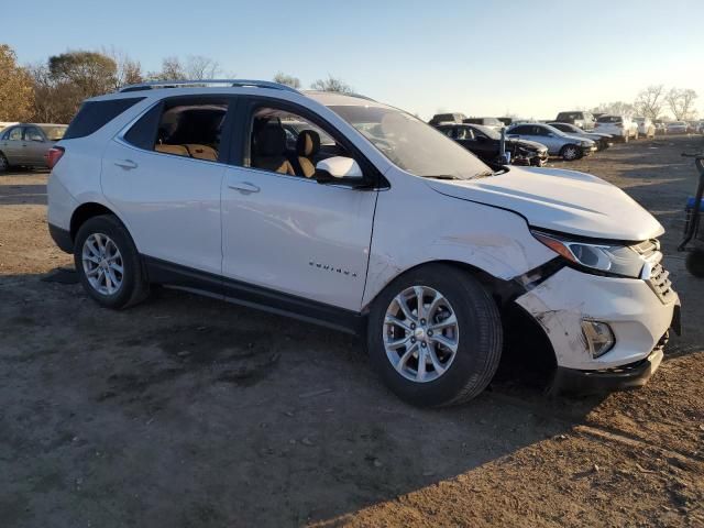
<path id="1" fill-rule="evenodd" d="M 161 258 L 141 256 L 150 283 L 215 297 L 345 333 L 363 336 L 366 331 L 364 314 L 173 264 Z"/>

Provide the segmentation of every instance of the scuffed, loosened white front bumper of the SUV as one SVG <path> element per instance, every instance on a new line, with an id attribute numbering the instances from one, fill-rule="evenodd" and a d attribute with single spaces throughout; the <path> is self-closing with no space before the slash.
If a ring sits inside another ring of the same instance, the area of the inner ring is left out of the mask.
<path id="1" fill-rule="evenodd" d="M 645 384 L 662 360 L 671 327 L 679 333 L 680 300 L 657 295 L 647 280 L 563 267 L 516 299 L 540 323 L 554 350 L 560 388 L 624 388 Z M 608 324 L 614 343 L 595 358 L 583 321 Z"/>

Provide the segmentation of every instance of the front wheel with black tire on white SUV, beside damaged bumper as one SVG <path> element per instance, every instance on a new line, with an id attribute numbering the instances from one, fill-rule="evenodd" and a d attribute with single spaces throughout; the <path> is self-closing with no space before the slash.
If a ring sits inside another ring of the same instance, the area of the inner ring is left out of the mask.
<path id="1" fill-rule="evenodd" d="M 417 317 L 418 289 L 424 309 L 435 306 L 426 324 Z M 403 315 L 397 300 L 406 295 L 410 318 Z M 391 317 L 407 328 L 389 322 Z M 435 338 L 433 324 L 446 327 L 436 328 Z M 446 264 L 418 267 L 389 284 L 374 300 L 367 328 L 371 361 L 382 380 L 399 398 L 419 407 L 462 404 L 484 391 L 498 367 L 503 337 L 498 308 L 488 292 L 470 274 Z M 454 353 L 438 340 L 454 345 Z M 389 346 L 402 341 L 407 345 Z M 425 369 L 419 369 L 420 354 L 426 358 Z M 421 370 L 425 380 L 419 381 Z"/>

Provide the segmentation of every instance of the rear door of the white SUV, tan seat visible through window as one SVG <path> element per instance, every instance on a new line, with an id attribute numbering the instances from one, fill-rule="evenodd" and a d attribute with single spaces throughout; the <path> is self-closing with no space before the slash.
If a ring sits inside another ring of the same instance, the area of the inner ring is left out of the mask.
<path id="1" fill-rule="evenodd" d="M 223 96 L 168 98 L 108 145 L 103 194 L 153 265 L 220 275 L 222 131 L 234 105 Z"/>

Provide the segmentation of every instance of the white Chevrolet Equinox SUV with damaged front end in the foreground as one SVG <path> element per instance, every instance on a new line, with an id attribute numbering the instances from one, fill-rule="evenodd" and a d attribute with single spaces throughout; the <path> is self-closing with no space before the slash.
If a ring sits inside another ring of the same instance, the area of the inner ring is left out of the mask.
<path id="1" fill-rule="evenodd" d="M 50 156 L 51 233 L 100 305 L 163 284 L 362 333 L 416 405 L 484 389 L 512 312 L 564 383 L 657 369 L 679 299 L 662 227 L 618 188 L 490 168 L 364 97 L 163 85 L 86 101 Z"/>

